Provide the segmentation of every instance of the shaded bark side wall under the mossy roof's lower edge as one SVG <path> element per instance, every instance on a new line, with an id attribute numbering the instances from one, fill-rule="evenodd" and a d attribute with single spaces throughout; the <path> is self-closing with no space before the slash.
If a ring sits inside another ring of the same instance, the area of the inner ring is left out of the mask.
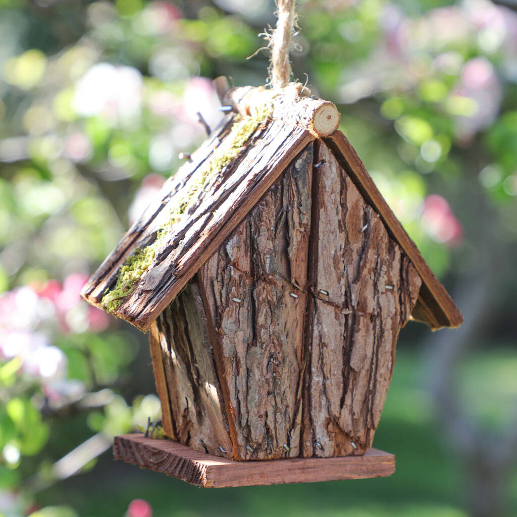
<path id="1" fill-rule="evenodd" d="M 207 318 L 195 282 L 160 314 L 150 335 L 165 433 L 210 454 L 231 450 Z"/>

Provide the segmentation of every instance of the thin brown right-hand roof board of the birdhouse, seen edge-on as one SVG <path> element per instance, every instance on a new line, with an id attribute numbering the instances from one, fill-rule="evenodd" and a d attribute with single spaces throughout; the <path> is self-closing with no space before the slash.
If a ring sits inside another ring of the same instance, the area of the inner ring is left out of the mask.
<path id="1" fill-rule="evenodd" d="M 435 320 L 433 323 L 439 322 L 439 326 L 434 326 L 433 323 L 429 322 L 430 326 L 433 330 L 443 327 L 459 327 L 463 323 L 463 315 L 455 305 L 445 287 L 436 278 L 427 262 L 425 262 L 416 244 L 404 230 L 397 217 L 393 214 L 393 211 L 381 192 L 377 189 L 372 177 L 366 170 L 366 167 L 357 155 L 355 149 L 348 142 L 346 136 L 341 131 L 337 130 L 328 138 L 324 138 L 323 140 L 333 151 L 334 155 L 336 155 L 338 161 L 342 162 L 343 168 L 359 188 L 361 194 L 381 217 L 388 232 L 401 246 L 409 257 L 409 260 L 417 269 L 424 285 L 421 292 L 422 298 L 427 298 L 426 295 L 430 295 L 432 297 L 432 300 L 425 300 L 425 305 L 429 308 L 435 305 L 434 309 L 436 310 L 438 308 L 441 310 L 443 315 L 447 318 L 447 322 L 444 322 L 443 317 L 439 317 L 439 314 L 434 314 Z"/>

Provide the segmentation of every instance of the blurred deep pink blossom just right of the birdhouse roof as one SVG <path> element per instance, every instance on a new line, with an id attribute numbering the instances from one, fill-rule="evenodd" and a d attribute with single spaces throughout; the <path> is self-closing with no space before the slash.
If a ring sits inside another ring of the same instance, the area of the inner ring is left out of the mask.
<path id="1" fill-rule="evenodd" d="M 460 244 L 463 228 L 455 218 L 447 200 L 440 195 L 429 195 L 422 206 L 421 224 L 424 231 L 436 242 L 449 246 Z"/>

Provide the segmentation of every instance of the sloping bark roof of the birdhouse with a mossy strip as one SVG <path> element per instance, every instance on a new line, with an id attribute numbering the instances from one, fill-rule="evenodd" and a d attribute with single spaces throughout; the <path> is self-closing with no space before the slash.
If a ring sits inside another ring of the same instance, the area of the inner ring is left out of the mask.
<path id="1" fill-rule="evenodd" d="M 241 100 L 240 97 L 236 102 Z M 321 107 L 325 105 L 327 109 L 331 104 L 307 97 L 296 97 L 294 102 L 298 100 L 300 113 L 307 111 L 308 105 L 320 119 Z M 296 111 L 290 109 L 292 102 L 293 98 L 287 103 L 283 98 L 273 99 L 246 108 L 246 116 L 227 115 L 192 154 L 192 161 L 165 182 L 156 200 L 84 286 L 83 298 L 147 330 L 286 166 L 307 144 L 322 136 L 421 276 L 413 318 L 433 329 L 459 326 L 463 316 L 344 134 L 339 130 L 328 136 L 318 134 L 312 124 L 315 117 L 307 121 L 292 116 Z M 285 116 L 286 112 L 290 115 Z M 324 118 L 330 120 L 332 116 L 330 113 Z"/>

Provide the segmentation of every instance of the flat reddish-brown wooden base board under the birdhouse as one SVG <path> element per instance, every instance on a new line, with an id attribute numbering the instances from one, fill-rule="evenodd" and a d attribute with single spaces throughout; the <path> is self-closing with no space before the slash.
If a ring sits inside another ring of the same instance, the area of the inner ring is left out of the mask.
<path id="1" fill-rule="evenodd" d="M 211 488 L 380 478 L 395 472 L 394 454 L 378 449 L 368 449 L 363 456 L 341 458 L 233 461 L 172 440 L 128 434 L 115 437 L 113 452 L 117 460 Z"/>

